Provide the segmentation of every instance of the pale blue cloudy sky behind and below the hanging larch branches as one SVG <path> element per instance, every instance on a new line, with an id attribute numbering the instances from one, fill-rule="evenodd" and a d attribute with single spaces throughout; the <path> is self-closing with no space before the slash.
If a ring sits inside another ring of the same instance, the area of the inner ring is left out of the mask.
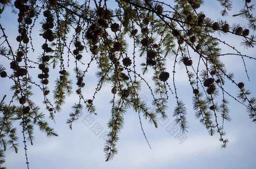
<path id="1" fill-rule="evenodd" d="M 168 0 L 165 0 L 165 2 L 168 2 Z M 232 17 L 233 14 L 238 13 L 241 5 L 240 0 L 234 0 L 233 2 L 234 8 L 230 12 L 230 17 L 226 17 L 226 19 L 229 20 L 230 25 L 235 22 L 246 25 L 246 21 L 241 20 L 241 18 Z M 251 3 L 256 3 L 256 1 L 252 0 Z M 222 8 L 217 1 L 207 0 L 205 5 L 199 10 L 204 11 L 207 17 L 218 20 Z M 13 22 L 13 20 L 16 20 L 16 17 L 15 14 L 5 11 L 0 18 L 0 23 L 6 29 L 5 33 L 8 35 L 12 44 L 16 43 L 15 38 L 18 35 L 16 23 L 14 24 Z M 42 38 L 38 36 L 38 30 L 39 26 L 35 27 L 32 34 L 32 37 L 33 35 L 37 37 L 33 39 L 33 45 L 37 50 L 29 54 L 32 60 L 37 59 L 39 55 L 38 49 L 40 49 L 43 43 Z M 222 36 L 222 39 L 229 42 L 230 45 L 235 46 L 243 54 L 256 57 L 255 49 L 245 50 L 239 45 L 241 40 L 239 37 L 225 35 Z M 223 53 L 232 51 L 223 45 L 221 45 L 221 48 Z M 198 55 L 194 55 L 193 57 L 197 58 Z M 84 59 L 85 61 L 89 61 L 90 55 L 85 54 Z M 235 73 L 235 81 L 243 81 L 245 87 L 251 90 L 252 96 L 256 96 L 256 62 L 246 59 L 248 74 L 251 78 L 251 81 L 248 81 L 240 57 L 224 56 L 222 61 L 227 66 L 229 72 Z M 9 64 L 9 61 L 0 58 L 0 63 L 5 65 Z M 167 59 L 167 65 L 167 71 L 172 72 L 172 57 Z M 73 67 L 71 66 L 70 71 L 72 69 Z M 55 70 L 50 73 L 53 75 L 50 76 L 49 87 L 54 86 L 53 81 L 58 76 L 58 71 Z M 94 88 L 98 81 L 95 77 L 95 71 L 97 71 L 97 68 L 94 64 L 84 78 L 86 87 L 83 93 L 86 98 L 92 97 L 94 93 Z M 37 77 L 38 72 L 31 72 L 32 76 L 33 74 Z M 179 68 L 175 76 L 179 98 L 186 104 L 188 113 L 189 132 L 185 134 L 187 139 L 179 140 L 176 136 L 179 131 L 176 131 L 174 134 L 170 134 L 167 131 L 168 126 L 172 126 L 174 120 L 172 118 L 172 112 L 175 107 L 175 97 L 170 95 L 167 111 L 169 121 L 159 121 L 162 125 L 159 125 L 155 129 L 147 121 L 142 120 L 144 131 L 152 149 L 149 149 L 144 139 L 138 121 L 138 114 L 133 110 L 128 110 L 125 114 L 125 125 L 120 133 L 120 140 L 117 144 L 118 154 L 112 161 L 105 162 L 103 152 L 105 141 L 101 138 L 101 135 L 105 131 L 108 131 L 106 124 L 110 118 L 111 105 L 109 101 L 112 98 L 110 93 L 111 86 L 106 85 L 102 88 L 102 91 L 97 93 L 96 99 L 94 100 L 94 105 L 97 107 L 97 116 L 88 116 L 88 113 L 84 110 L 77 123 L 73 124 L 73 130 L 68 129 L 65 121 L 68 119 L 68 114 L 72 111 L 71 106 L 78 100 L 78 96 L 73 94 L 67 98 L 63 112 L 56 114 L 56 124 L 49 120 L 50 125 L 59 134 L 58 137 L 47 138 L 35 127 L 34 145 L 28 145 L 27 151 L 30 169 L 185 169 L 188 167 L 195 169 L 216 169 L 220 167 L 225 169 L 254 169 L 256 124 L 249 119 L 245 107 L 227 96 L 230 101 L 230 117 L 232 121 L 230 123 L 226 122 L 224 125 L 230 143 L 226 149 L 221 149 L 219 136 L 217 134 L 215 136 L 209 136 L 204 126 L 194 116 L 192 91 L 185 74 L 185 68 Z M 149 84 L 153 86 L 150 82 L 150 77 L 150 72 L 144 76 L 149 81 Z M 75 76 L 72 75 L 72 78 L 74 79 Z M 34 80 L 37 81 L 37 78 Z M 9 91 L 10 81 L 8 82 L 2 79 L 0 81 L 0 96 L 2 97 L 4 94 L 7 94 L 8 98 L 10 98 L 12 96 L 12 93 Z M 238 88 L 230 83 L 227 83 L 225 88 L 235 96 L 238 93 Z M 150 105 L 152 98 L 148 94 L 148 90 L 144 88 L 142 91 L 141 96 L 145 98 L 145 101 L 148 99 L 147 103 Z M 39 93 L 38 90 L 34 93 L 33 101 L 41 105 L 42 111 L 46 112 L 44 106 L 42 106 L 42 93 Z M 91 124 L 86 121 L 89 119 Z M 102 131 L 97 135 L 91 129 L 93 129 L 94 125 L 98 124 L 101 126 Z M 18 124 L 15 125 L 17 126 L 18 134 L 21 136 L 21 127 Z M 6 151 L 5 166 L 8 169 L 26 169 L 24 149 L 21 144 L 22 137 L 20 138 L 20 147 L 17 154 L 11 150 Z M 182 144 L 180 144 L 181 142 Z"/>

